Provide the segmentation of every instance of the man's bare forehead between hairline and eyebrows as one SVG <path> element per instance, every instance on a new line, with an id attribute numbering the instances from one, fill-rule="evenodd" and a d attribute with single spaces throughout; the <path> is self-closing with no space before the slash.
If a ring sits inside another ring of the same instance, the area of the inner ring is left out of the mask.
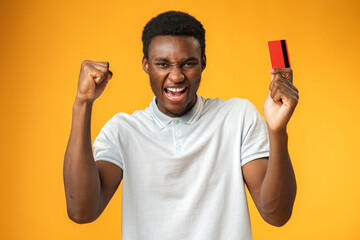
<path id="1" fill-rule="evenodd" d="M 182 59 L 188 57 L 201 58 L 199 41 L 193 36 L 169 36 L 161 35 L 151 39 L 149 59 L 167 58 Z"/>

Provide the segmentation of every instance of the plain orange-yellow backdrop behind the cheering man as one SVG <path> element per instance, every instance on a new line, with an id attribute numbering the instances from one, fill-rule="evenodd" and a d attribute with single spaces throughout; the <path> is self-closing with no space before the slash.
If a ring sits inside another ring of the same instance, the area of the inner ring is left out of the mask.
<path id="1" fill-rule="evenodd" d="M 262 112 L 267 41 L 287 39 L 300 102 L 289 125 L 298 182 L 292 219 L 255 239 L 360 239 L 360 2 L 1 1 L 0 239 L 120 239 L 121 191 L 94 223 L 67 218 L 62 164 L 80 63 L 107 60 L 114 78 L 94 104 L 92 139 L 117 112 L 146 108 L 141 32 L 166 10 L 205 26 L 199 94 L 248 98 Z"/>

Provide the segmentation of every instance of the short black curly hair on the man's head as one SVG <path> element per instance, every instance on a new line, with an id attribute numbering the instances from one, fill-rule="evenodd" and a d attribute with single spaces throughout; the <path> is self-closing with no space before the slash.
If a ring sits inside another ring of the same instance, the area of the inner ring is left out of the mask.
<path id="1" fill-rule="evenodd" d="M 201 48 L 201 57 L 205 56 L 205 29 L 193 16 L 179 11 L 160 13 L 144 27 L 142 34 L 144 57 L 148 58 L 151 39 L 160 35 L 193 36 Z"/>

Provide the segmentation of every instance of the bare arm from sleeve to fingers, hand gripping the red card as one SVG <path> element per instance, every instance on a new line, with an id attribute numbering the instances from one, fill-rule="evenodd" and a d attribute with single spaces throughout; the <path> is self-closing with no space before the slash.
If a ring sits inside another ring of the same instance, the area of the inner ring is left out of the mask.
<path id="1" fill-rule="evenodd" d="M 270 139 L 269 159 L 245 164 L 243 174 L 263 219 L 274 226 L 282 226 L 291 217 L 296 196 L 296 180 L 287 147 L 286 127 L 299 94 L 292 84 L 291 69 L 272 69 L 270 73 L 270 91 L 264 104 Z"/>

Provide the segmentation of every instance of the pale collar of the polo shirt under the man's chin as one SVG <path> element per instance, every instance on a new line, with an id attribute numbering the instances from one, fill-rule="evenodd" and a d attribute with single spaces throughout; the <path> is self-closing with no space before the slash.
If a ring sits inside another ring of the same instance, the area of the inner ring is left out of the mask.
<path id="1" fill-rule="evenodd" d="M 152 102 L 150 103 L 150 113 L 156 124 L 161 129 L 163 129 L 175 119 L 179 119 L 180 121 L 185 122 L 187 124 L 196 123 L 196 121 L 200 118 L 203 106 L 204 106 L 203 98 L 200 97 L 199 95 L 196 95 L 196 103 L 187 113 L 185 113 L 181 117 L 172 118 L 162 113 L 159 110 L 159 108 L 156 105 L 156 97 L 154 96 Z"/>

